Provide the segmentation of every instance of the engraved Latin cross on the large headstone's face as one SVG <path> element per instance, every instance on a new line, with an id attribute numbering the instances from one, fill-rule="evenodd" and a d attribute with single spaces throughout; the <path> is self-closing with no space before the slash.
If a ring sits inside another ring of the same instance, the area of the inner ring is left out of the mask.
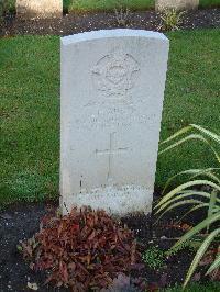
<path id="1" fill-rule="evenodd" d="M 97 155 L 108 155 L 109 156 L 108 176 L 107 176 L 107 182 L 109 186 L 113 184 L 113 176 L 112 176 L 113 156 L 117 154 L 124 153 L 129 149 L 128 147 L 114 148 L 114 136 L 116 136 L 116 132 L 110 133 L 110 147 L 109 147 L 109 149 L 105 149 L 105 150 L 98 150 L 97 149 L 96 150 Z"/>

